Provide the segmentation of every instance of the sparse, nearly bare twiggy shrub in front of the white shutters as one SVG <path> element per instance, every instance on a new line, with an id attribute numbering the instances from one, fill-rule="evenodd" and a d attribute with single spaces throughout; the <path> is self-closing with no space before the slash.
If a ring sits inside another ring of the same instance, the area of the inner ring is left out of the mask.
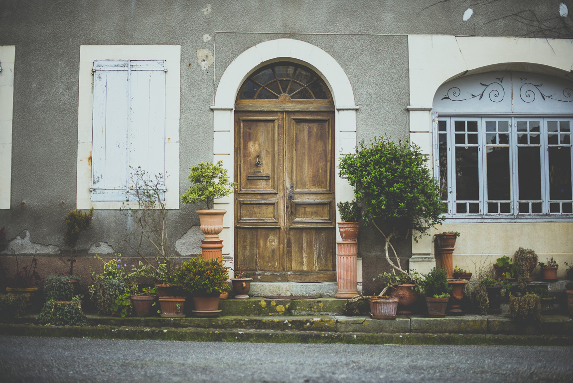
<path id="1" fill-rule="evenodd" d="M 134 225 L 126 229 L 123 242 L 142 257 L 147 271 L 157 282 L 171 283 L 174 267 L 167 232 L 169 210 L 164 201 L 166 176 L 162 173 L 151 175 L 140 166 L 130 166 L 129 171 L 129 198 L 120 211 Z M 150 253 L 153 254 L 152 261 L 149 260 Z"/>

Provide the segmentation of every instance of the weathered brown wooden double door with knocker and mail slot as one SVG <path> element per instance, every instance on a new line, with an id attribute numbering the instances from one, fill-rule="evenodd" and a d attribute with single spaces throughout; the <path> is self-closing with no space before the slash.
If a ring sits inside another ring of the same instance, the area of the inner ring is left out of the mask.
<path id="1" fill-rule="evenodd" d="M 235 113 L 235 261 L 254 282 L 335 282 L 334 113 Z"/>

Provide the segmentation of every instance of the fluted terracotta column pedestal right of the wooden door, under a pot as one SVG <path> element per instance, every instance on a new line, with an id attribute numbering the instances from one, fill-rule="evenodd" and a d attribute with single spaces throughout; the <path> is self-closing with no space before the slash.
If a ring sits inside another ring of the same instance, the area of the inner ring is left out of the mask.
<path id="1" fill-rule="evenodd" d="M 356 258 L 358 257 L 358 242 L 336 242 L 336 282 L 335 298 L 348 299 L 358 295 L 356 290 Z"/>

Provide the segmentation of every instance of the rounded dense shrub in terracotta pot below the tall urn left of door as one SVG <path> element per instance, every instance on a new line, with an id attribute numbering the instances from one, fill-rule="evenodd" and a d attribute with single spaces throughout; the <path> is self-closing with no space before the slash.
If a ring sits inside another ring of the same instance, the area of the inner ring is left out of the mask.
<path id="1" fill-rule="evenodd" d="M 217 259 L 195 257 L 177 269 L 176 280 L 193 297 L 196 316 L 218 316 L 219 295 L 229 290 L 227 269 Z M 181 307 L 183 311 L 183 307 Z"/>

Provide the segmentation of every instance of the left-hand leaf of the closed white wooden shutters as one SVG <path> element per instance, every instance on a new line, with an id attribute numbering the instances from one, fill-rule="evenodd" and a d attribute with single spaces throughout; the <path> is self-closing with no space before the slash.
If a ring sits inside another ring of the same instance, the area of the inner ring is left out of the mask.
<path id="1" fill-rule="evenodd" d="M 127 191 L 129 61 L 93 64 L 92 201 L 122 201 Z"/>

